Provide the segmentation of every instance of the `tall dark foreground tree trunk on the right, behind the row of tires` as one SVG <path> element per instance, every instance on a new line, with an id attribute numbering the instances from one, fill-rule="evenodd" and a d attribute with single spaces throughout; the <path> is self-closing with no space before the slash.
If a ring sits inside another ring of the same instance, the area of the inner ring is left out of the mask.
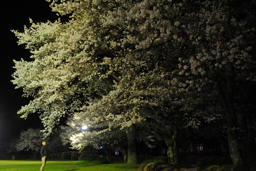
<path id="1" fill-rule="evenodd" d="M 231 37 L 229 33 L 229 25 L 231 19 L 231 0 L 225 0 L 224 5 L 226 16 L 229 18 L 225 29 L 227 33 L 225 36 L 228 38 Z M 236 75 L 234 74 L 234 68 L 232 64 L 226 65 L 225 69 L 226 73 L 222 73 L 223 75 L 218 75 L 217 78 L 215 78 L 214 83 L 218 95 L 221 98 L 226 110 L 230 156 L 234 166 L 238 166 L 243 164 L 243 160 L 238 146 L 238 131 L 236 130 L 238 128 L 238 119 L 234 110 L 234 90 L 236 86 L 234 78 Z M 218 81 L 216 81 L 217 79 Z"/>

